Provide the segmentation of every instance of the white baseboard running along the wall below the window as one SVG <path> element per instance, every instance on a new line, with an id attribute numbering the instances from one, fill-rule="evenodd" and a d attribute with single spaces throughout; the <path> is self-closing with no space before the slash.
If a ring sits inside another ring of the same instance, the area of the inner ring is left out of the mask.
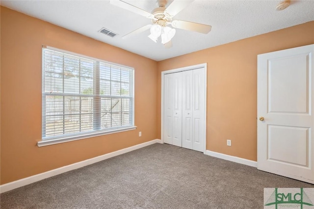
<path id="1" fill-rule="evenodd" d="M 118 155 L 122 155 L 122 154 L 131 152 L 133 150 L 137 150 L 137 149 L 140 149 L 140 148 L 143 148 L 143 147 L 155 144 L 155 143 L 161 143 L 161 140 L 160 139 L 154 139 L 152 141 L 148 141 L 148 142 L 145 142 L 145 143 L 142 143 L 142 144 L 134 145 L 132 147 L 128 147 L 128 148 L 125 148 L 125 149 L 122 149 L 122 150 L 118 150 L 118 151 L 115 151 L 115 152 L 112 152 L 112 153 L 108 153 L 108 154 L 105 154 L 105 155 L 102 155 L 102 156 L 86 159 L 86 160 L 83 160 L 83 161 L 80 161 L 80 162 L 73 163 L 71 165 L 66 165 L 66 166 L 63 166 L 63 167 L 60 167 L 60 168 L 53 169 L 51 171 L 47 171 L 47 172 L 44 172 L 44 173 L 36 174 L 34 176 L 26 177 L 24 179 L 20 179 L 20 180 L 14 181 L 14 182 L 5 183 L 5 184 L 0 185 L 0 193 L 6 192 L 6 191 L 10 191 L 12 189 L 15 189 L 15 188 L 18 188 L 18 187 L 21 187 L 21 186 L 25 186 L 25 185 L 30 184 L 30 183 L 38 182 L 40 180 L 47 179 L 49 177 L 52 177 L 52 176 L 55 176 L 55 175 L 58 175 L 58 174 L 62 174 L 62 173 L 65 173 L 65 172 L 68 172 L 68 171 L 71 171 L 71 170 L 75 170 L 75 169 L 84 167 L 86 165 L 90 165 L 90 164 L 102 161 L 104 159 L 108 159 L 110 157 L 115 157 L 115 156 L 118 156 Z"/>

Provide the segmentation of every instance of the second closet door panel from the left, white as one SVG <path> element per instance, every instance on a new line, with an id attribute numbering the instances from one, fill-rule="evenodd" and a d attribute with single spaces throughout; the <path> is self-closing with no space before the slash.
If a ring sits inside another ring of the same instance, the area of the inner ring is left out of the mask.
<path id="1" fill-rule="evenodd" d="M 182 147 L 182 73 L 173 75 L 173 139 L 172 144 Z"/>

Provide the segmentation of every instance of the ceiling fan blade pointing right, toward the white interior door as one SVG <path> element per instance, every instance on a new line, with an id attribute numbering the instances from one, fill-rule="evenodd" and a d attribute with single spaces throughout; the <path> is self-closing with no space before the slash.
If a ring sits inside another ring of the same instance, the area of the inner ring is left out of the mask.
<path id="1" fill-rule="evenodd" d="M 204 25 L 204 24 L 199 24 L 199 23 L 192 23 L 188 21 L 183 21 L 183 20 L 173 20 L 171 22 L 171 25 L 175 28 L 180 28 L 184 30 L 191 30 L 199 33 L 209 33 L 211 30 L 211 26 L 209 25 Z"/>

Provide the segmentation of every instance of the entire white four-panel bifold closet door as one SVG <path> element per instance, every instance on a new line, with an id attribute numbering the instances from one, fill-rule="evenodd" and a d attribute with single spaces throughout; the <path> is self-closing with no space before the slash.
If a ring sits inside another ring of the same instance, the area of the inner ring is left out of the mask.
<path id="1" fill-rule="evenodd" d="M 164 143 L 204 152 L 205 68 L 164 75 Z"/>

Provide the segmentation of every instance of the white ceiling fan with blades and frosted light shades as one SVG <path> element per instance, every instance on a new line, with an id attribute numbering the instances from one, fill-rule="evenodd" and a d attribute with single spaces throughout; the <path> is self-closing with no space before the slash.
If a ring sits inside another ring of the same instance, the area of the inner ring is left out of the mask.
<path id="1" fill-rule="evenodd" d="M 172 20 L 172 18 L 177 15 L 181 10 L 183 10 L 188 4 L 190 4 L 194 0 L 173 0 L 173 2 L 166 8 L 166 4 L 168 0 L 157 0 L 157 7 L 149 13 L 143 9 L 140 9 L 136 6 L 133 6 L 127 2 L 122 0 L 110 0 L 110 3 L 116 6 L 119 6 L 123 9 L 127 9 L 131 12 L 136 14 L 142 15 L 146 18 L 151 19 L 152 24 L 142 26 L 125 36 L 123 39 L 129 38 L 133 35 L 141 33 L 145 30 L 150 29 L 151 34 L 148 36 L 154 42 L 157 42 L 158 37 L 161 37 L 161 43 L 164 45 L 165 48 L 171 48 L 172 42 L 171 39 L 174 37 L 176 33 L 175 28 L 180 28 L 184 30 L 195 31 L 199 33 L 207 34 L 211 30 L 211 26 L 199 24 L 199 23 L 192 23 L 183 20 Z M 171 25 L 172 27 L 170 27 Z"/>

